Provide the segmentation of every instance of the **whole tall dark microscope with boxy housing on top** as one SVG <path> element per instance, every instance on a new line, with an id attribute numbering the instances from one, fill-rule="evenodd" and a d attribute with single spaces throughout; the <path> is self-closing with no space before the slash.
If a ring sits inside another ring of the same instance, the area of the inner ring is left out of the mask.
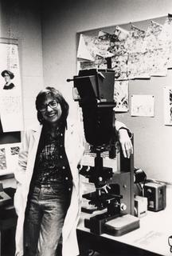
<path id="1" fill-rule="evenodd" d="M 80 174 L 96 189 L 83 195 L 96 209 L 93 216 L 85 218 L 84 225 L 95 234 L 125 234 L 139 227 L 139 219 L 133 216 L 133 155 L 128 159 L 119 152 L 119 171 L 115 173 L 111 167 L 104 167 L 101 156 L 104 151 L 108 151 L 109 158 L 117 156 L 113 110 L 115 72 L 80 70 L 72 80 L 73 98 L 82 108 L 85 139 L 90 151 L 96 155 L 94 166 L 78 166 Z"/>

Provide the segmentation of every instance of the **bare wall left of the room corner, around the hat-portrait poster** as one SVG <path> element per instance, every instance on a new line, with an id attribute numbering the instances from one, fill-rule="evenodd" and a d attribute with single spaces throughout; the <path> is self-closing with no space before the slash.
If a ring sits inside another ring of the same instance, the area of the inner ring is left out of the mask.
<path id="1" fill-rule="evenodd" d="M 0 38 L 18 39 L 26 128 L 36 121 L 35 97 L 43 88 L 39 1 L 1 0 Z"/>

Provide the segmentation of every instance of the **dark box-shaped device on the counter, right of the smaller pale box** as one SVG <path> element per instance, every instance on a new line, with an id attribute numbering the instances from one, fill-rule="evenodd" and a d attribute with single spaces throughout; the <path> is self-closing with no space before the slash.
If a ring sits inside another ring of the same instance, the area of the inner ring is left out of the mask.
<path id="1" fill-rule="evenodd" d="M 144 186 L 147 198 L 147 210 L 159 211 L 166 208 L 166 185 L 158 182 L 147 182 Z"/>

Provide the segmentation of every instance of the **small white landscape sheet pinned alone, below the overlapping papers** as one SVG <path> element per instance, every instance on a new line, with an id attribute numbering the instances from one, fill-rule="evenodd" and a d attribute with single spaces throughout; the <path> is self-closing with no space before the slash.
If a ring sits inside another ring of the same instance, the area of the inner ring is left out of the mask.
<path id="1" fill-rule="evenodd" d="M 131 95 L 131 116 L 154 117 L 154 96 Z"/>

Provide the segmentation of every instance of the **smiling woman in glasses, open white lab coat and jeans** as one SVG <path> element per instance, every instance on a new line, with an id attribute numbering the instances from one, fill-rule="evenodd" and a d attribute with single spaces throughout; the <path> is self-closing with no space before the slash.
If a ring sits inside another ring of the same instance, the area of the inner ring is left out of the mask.
<path id="1" fill-rule="evenodd" d="M 76 256 L 82 132 L 78 124 L 67 123 L 68 103 L 55 88 L 41 90 L 36 108 L 41 126 L 25 132 L 15 171 L 16 255 L 57 255 L 62 234 L 62 255 Z M 132 151 L 130 138 L 123 124 L 118 122 L 117 126 L 128 156 Z"/>

